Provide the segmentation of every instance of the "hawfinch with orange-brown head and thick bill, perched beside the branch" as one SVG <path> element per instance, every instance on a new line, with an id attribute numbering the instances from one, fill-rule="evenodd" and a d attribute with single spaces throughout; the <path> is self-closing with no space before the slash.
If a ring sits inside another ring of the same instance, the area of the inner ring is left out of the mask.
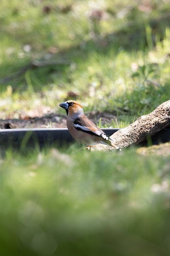
<path id="1" fill-rule="evenodd" d="M 78 102 L 68 100 L 59 106 L 64 108 L 67 113 L 67 128 L 75 140 L 87 144 L 88 147 L 102 143 L 119 149 L 107 134 L 85 116 L 82 106 Z"/>

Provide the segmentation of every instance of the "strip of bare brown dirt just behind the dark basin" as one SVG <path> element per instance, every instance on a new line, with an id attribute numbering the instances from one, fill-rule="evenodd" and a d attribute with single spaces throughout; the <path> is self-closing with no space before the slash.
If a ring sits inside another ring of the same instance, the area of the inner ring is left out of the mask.
<path id="1" fill-rule="evenodd" d="M 115 119 L 110 113 L 95 113 L 87 115 L 95 124 L 102 118 L 102 125 L 109 124 Z M 66 116 L 51 113 L 42 117 L 25 119 L 0 119 L 0 129 L 17 128 L 66 128 Z"/>

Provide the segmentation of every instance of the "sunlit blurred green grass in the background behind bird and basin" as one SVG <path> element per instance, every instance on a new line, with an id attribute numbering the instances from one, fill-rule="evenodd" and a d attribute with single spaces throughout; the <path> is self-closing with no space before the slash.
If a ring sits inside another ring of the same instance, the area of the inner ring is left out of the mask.
<path id="1" fill-rule="evenodd" d="M 166 1 L 3 0 L 0 9 L 0 78 L 30 61 L 66 62 L 1 80 L 2 118 L 42 105 L 62 113 L 69 91 L 86 111 L 117 116 L 146 114 L 170 98 Z"/>

